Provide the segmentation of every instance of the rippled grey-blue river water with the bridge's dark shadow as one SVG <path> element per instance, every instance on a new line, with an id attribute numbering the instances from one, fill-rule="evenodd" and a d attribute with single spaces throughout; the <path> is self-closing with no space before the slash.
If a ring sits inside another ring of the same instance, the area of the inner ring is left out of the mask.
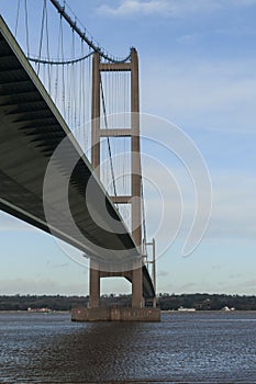
<path id="1" fill-rule="evenodd" d="M 155 324 L 0 313 L 0 382 L 256 383 L 256 313 L 170 312 Z"/>

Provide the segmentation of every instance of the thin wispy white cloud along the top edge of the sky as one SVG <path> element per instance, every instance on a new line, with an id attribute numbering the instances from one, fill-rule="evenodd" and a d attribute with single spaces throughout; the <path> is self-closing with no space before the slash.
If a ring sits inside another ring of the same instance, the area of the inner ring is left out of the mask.
<path id="1" fill-rule="evenodd" d="M 183 16 L 194 13 L 211 13 L 230 7 L 254 5 L 256 0 L 123 0 L 118 7 L 102 4 L 98 13 L 116 18 L 162 14 Z"/>

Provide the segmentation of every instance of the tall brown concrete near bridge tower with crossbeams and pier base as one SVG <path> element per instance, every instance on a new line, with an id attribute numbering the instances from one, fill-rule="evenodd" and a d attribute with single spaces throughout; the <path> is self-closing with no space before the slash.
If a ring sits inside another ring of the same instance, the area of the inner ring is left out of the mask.
<path id="1" fill-rule="evenodd" d="M 102 128 L 101 127 L 101 72 L 129 71 L 131 74 L 131 127 Z M 131 194 L 111 196 L 113 203 L 131 204 L 132 237 L 141 255 L 140 262 L 134 262 L 130 270 L 107 271 L 93 258 L 90 259 L 89 307 L 73 312 L 74 320 L 138 320 L 159 321 L 160 310 L 155 307 L 156 300 L 152 297 L 154 307 L 145 307 L 143 296 L 143 244 L 142 244 L 142 169 L 140 148 L 140 86 L 138 58 L 135 48 L 131 49 L 129 63 L 101 63 L 100 54 L 94 53 L 92 58 L 92 102 L 91 102 L 91 163 L 98 178 L 101 172 L 101 137 L 131 138 Z M 143 267 L 144 266 L 144 267 Z M 145 272 L 145 271 L 144 271 Z M 132 283 L 132 307 L 101 308 L 100 279 L 107 276 L 123 276 Z M 155 280 L 155 279 L 154 279 Z"/>

